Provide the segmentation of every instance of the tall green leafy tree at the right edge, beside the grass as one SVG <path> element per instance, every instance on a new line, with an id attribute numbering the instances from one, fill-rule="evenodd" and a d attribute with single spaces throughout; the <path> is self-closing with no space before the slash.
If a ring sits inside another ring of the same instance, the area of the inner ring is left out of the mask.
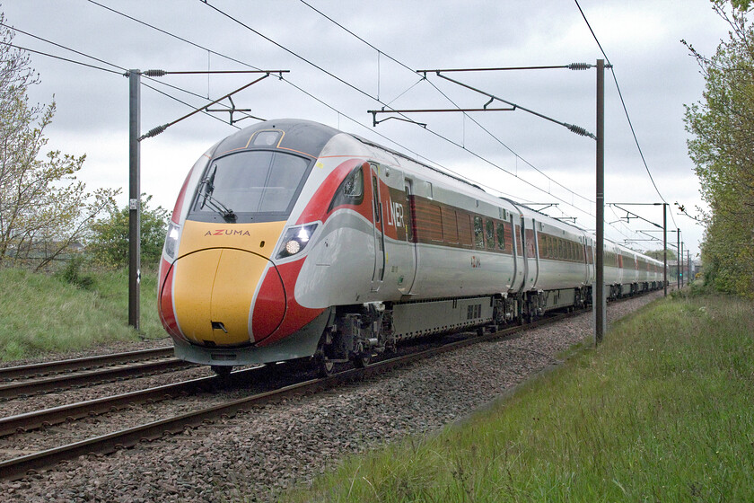
<path id="1" fill-rule="evenodd" d="M 686 107 L 688 154 L 709 205 L 702 260 L 705 279 L 720 290 L 754 297 L 754 29 L 750 1 L 723 0 L 713 8 L 731 29 L 715 55 L 697 59 L 706 86 Z"/>

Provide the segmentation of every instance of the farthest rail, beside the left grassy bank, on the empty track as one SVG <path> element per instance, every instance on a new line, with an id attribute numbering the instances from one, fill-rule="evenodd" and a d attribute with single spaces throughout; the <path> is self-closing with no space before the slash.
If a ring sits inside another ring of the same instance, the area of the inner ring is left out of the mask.
<path id="1" fill-rule="evenodd" d="M 48 375 L 56 372 L 65 372 L 69 370 L 83 370 L 92 368 L 92 366 L 117 365 L 119 363 L 128 363 L 151 358 L 171 357 L 173 348 L 142 349 L 139 351 L 128 351 L 124 353 L 112 353 L 110 355 L 97 355 L 94 357 L 72 358 L 67 360 L 58 360 L 50 362 L 41 362 L 31 365 L 6 366 L 0 368 L 0 380 L 9 381 L 19 377 L 30 377 L 33 375 Z"/>

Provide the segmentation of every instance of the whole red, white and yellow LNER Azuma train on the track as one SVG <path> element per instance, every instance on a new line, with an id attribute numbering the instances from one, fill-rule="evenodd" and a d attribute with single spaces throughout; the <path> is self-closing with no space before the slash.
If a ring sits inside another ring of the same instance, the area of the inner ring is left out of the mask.
<path id="1" fill-rule="evenodd" d="M 259 122 L 183 182 L 159 269 L 177 357 L 304 359 L 321 375 L 418 337 L 496 330 L 592 302 L 595 238 L 390 148 L 302 119 Z M 609 298 L 662 262 L 606 240 Z"/>

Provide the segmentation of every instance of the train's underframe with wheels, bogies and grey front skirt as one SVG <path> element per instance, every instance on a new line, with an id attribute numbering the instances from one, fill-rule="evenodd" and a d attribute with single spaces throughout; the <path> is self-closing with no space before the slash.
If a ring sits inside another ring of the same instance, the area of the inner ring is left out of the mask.
<path id="1" fill-rule="evenodd" d="M 606 285 L 608 300 L 661 288 L 662 282 Z M 229 375 L 232 366 L 284 361 L 311 361 L 320 375 L 338 363 L 365 366 L 399 343 L 456 331 L 498 331 L 533 322 L 545 313 L 592 304 L 592 287 L 532 290 L 515 295 L 495 294 L 423 301 L 373 302 L 333 306 L 302 331 L 269 346 L 248 349 L 200 349 L 176 340 L 176 355 L 212 366 Z M 313 357 L 311 356 L 313 353 Z"/>

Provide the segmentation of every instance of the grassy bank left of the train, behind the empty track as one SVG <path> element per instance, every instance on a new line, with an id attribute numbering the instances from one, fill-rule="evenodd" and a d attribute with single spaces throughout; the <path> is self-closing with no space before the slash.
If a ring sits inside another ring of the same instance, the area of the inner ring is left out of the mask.
<path id="1" fill-rule="evenodd" d="M 76 287 L 61 276 L 0 269 L 0 360 L 165 335 L 157 316 L 155 274 L 142 276 L 141 334 L 128 327 L 127 270 L 87 277 L 92 281 Z"/>

